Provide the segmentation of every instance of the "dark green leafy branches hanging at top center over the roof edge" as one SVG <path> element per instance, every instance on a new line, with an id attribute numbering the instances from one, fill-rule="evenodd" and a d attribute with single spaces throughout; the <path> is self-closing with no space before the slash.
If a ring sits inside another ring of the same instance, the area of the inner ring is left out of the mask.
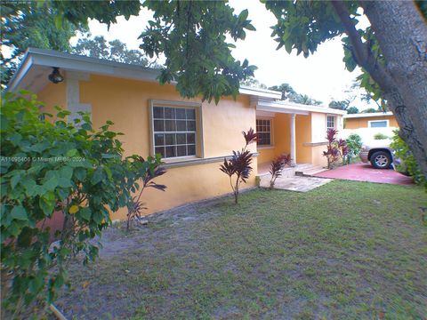
<path id="1" fill-rule="evenodd" d="M 245 39 L 245 30 L 254 30 L 248 12 L 239 14 L 222 1 L 145 1 L 155 12 L 154 20 L 141 34 L 141 48 L 149 57 L 164 53 L 161 84 L 177 81 L 182 97 L 201 95 L 216 103 L 222 96 L 238 95 L 240 80 L 254 76 L 247 60 L 235 60 L 226 42 Z"/>

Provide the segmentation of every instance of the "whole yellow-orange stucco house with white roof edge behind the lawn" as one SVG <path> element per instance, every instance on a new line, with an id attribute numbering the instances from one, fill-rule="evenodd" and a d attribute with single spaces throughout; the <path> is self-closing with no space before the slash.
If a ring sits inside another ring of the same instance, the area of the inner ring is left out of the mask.
<path id="1" fill-rule="evenodd" d="M 49 80 L 58 68 L 64 80 Z M 157 83 L 158 71 L 50 50 L 28 49 L 9 91 L 36 92 L 44 109 L 60 105 L 72 112 L 90 111 L 95 127 L 114 122 L 125 133 L 126 154 L 160 153 L 167 173 L 157 181 L 165 193 L 147 190 L 149 212 L 230 192 L 219 166 L 231 150 L 242 147 L 241 132 L 256 128 L 260 140 L 252 145 L 255 185 L 258 168 L 275 156 L 289 153 L 295 164 L 325 164 L 326 129 L 342 130 L 341 110 L 279 100 L 280 92 L 241 87 L 237 100 L 218 105 L 201 99 L 182 99 L 173 84 Z M 125 211 L 113 219 L 124 219 Z"/>

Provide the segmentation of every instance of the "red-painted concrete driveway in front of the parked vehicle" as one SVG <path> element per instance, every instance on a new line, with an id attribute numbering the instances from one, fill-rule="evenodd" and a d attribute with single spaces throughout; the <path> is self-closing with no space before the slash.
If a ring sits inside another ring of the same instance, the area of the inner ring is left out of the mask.
<path id="1" fill-rule="evenodd" d="M 399 185 L 413 184 L 412 179 L 404 174 L 395 172 L 392 169 L 374 169 L 371 164 L 364 163 L 343 165 L 342 167 L 338 167 L 333 170 L 316 173 L 314 176 L 330 179 L 357 180 Z"/>

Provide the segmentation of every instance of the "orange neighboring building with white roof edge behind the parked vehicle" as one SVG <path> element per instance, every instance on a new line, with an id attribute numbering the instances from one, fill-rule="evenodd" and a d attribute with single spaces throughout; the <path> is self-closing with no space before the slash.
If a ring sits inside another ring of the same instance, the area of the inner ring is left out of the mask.
<path id="1" fill-rule="evenodd" d="M 375 133 L 391 138 L 396 129 L 399 124 L 391 112 L 344 115 L 343 136 L 347 138 L 351 133 L 357 133 L 366 144 L 373 143 Z"/>

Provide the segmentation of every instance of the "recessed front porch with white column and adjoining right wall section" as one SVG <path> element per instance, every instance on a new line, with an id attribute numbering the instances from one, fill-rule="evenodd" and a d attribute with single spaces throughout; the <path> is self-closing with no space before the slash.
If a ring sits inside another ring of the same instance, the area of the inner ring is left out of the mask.
<path id="1" fill-rule="evenodd" d="M 284 153 L 291 157 L 284 175 L 326 165 L 326 130 L 329 126 L 340 130 L 345 111 L 260 97 L 251 103 L 256 108 L 259 175 L 268 173 L 271 161 Z"/>

